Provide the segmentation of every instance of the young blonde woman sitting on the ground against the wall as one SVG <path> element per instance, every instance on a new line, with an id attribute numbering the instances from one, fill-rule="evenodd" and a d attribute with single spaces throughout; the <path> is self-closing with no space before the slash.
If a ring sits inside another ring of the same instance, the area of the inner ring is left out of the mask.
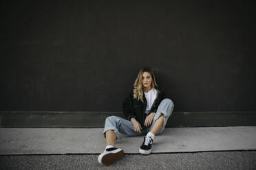
<path id="1" fill-rule="evenodd" d="M 134 82 L 134 89 L 123 102 L 123 112 L 127 119 L 111 116 L 105 121 L 103 136 L 106 148 L 98 162 L 111 165 L 122 158 L 124 151 L 115 144 L 121 134 L 128 136 L 146 135 L 139 148 L 140 154 L 150 154 L 153 139 L 164 130 L 173 112 L 173 102 L 158 88 L 153 71 L 149 67 L 140 69 Z"/>

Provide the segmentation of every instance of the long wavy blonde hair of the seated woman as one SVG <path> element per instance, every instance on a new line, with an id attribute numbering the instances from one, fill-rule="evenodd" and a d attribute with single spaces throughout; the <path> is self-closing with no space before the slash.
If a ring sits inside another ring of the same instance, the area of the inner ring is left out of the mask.
<path id="1" fill-rule="evenodd" d="M 155 88 L 155 86 L 156 87 L 158 86 L 158 84 L 156 84 L 156 77 L 150 67 L 144 67 L 144 68 L 140 69 L 140 71 L 138 73 L 138 77 L 136 78 L 136 80 L 134 82 L 134 99 L 138 99 L 142 102 L 144 102 L 143 101 L 143 92 L 145 90 L 145 87 L 142 85 L 142 78 L 143 78 L 144 72 L 148 72 L 152 77 L 151 88 Z"/>

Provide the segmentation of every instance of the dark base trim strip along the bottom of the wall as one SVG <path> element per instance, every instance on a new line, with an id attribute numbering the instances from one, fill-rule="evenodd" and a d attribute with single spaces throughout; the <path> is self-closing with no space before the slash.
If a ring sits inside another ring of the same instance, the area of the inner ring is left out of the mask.
<path id="1" fill-rule="evenodd" d="M 104 127 L 122 112 L 1 111 L 0 127 Z M 256 112 L 173 112 L 167 127 L 255 126 Z"/>

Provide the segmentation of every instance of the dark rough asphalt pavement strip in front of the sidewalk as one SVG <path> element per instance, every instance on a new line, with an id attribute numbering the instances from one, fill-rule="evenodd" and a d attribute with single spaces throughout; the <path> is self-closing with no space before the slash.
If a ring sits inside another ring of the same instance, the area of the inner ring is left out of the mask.
<path id="1" fill-rule="evenodd" d="M 0 156 L 0 169 L 233 169 L 255 170 L 256 151 L 214 151 L 181 154 L 125 154 L 113 165 L 98 163 L 98 154 Z"/>

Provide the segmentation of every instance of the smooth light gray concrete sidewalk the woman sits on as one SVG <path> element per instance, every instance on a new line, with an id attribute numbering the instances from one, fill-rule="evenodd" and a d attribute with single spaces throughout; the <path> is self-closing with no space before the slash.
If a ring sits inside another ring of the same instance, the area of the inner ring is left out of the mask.
<path id="1" fill-rule="evenodd" d="M 0 154 L 100 154 L 102 128 L 0 128 Z M 138 154 L 143 136 L 116 143 Z M 256 126 L 166 128 L 153 141 L 152 153 L 255 150 Z"/>

